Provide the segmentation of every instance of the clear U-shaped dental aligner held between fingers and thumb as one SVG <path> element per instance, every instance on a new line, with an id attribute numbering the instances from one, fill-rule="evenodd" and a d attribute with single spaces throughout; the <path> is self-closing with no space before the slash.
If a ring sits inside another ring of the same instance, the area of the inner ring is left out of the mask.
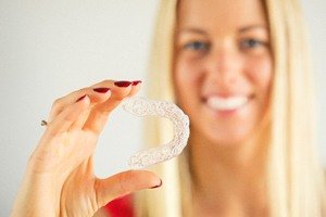
<path id="1" fill-rule="evenodd" d="M 129 158 L 129 166 L 135 169 L 168 161 L 179 155 L 189 138 L 189 118 L 175 104 L 143 98 L 129 98 L 123 102 L 125 111 L 137 116 L 161 116 L 168 118 L 174 126 L 173 140 L 156 148 L 142 150 Z"/>

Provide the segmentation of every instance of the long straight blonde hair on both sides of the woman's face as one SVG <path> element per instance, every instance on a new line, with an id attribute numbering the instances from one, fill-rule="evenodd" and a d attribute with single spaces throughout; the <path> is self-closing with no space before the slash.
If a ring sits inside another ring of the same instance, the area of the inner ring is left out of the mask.
<path id="1" fill-rule="evenodd" d="M 271 123 L 267 158 L 267 188 L 271 216 L 326 215 L 323 168 L 315 150 L 315 108 L 312 73 L 299 2 L 265 0 L 274 80 L 271 92 Z M 175 101 L 173 91 L 173 41 L 177 0 L 162 0 L 150 61 L 149 98 Z M 172 138 L 163 119 L 149 119 L 146 141 L 155 145 Z M 137 199 L 141 217 L 180 217 L 190 204 L 190 176 L 186 155 L 153 168 L 163 187 L 143 191 Z M 180 173 L 183 173 L 180 175 Z"/>

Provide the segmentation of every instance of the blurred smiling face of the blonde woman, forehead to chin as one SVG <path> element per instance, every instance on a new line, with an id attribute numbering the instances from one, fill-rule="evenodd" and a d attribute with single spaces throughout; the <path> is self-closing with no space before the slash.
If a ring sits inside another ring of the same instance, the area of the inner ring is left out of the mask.
<path id="1" fill-rule="evenodd" d="M 180 0 L 174 85 L 191 133 L 220 144 L 248 139 L 266 113 L 272 79 L 260 0 Z"/>

